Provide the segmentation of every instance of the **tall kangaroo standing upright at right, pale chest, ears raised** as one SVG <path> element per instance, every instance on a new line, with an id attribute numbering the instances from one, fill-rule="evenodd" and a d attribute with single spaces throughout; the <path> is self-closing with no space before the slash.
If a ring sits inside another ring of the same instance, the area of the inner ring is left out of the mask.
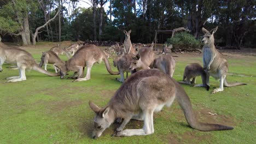
<path id="1" fill-rule="evenodd" d="M 211 32 L 207 31 L 205 28 L 202 28 L 203 39 L 203 69 L 207 70 L 206 83 L 209 85 L 210 75 L 215 79 L 220 80 L 219 88 L 213 89 L 212 93 L 217 93 L 223 91 L 223 85 L 226 87 L 247 85 L 246 83 L 235 82 L 228 83 L 226 81 L 226 74 L 228 73 L 228 62 L 222 55 L 222 53 L 218 52 L 214 45 L 214 37 L 213 34 L 217 31 L 218 27 L 211 30 Z"/>

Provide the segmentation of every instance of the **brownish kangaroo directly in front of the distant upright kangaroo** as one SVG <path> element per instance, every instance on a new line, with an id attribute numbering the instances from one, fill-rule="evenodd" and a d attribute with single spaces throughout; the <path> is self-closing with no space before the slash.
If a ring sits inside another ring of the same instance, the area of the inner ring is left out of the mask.
<path id="1" fill-rule="evenodd" d="M 133 73 L 134 71 L 131 71 L 129 69 L 130 65 L 131 65 L 131 61 L 132 61 L 132 56 L 131 54 L 125 54 L 122 57 L 119 58 L 115 58 L 113 63 L 114 63 L 114 67 L 117 67 L 121 78 L 120 79 L 116 79 L 119 82 L 124 82 L 124 72 L 126 72 L 126 79 L 128 77 L 128 73 L 131 72 Z"/>

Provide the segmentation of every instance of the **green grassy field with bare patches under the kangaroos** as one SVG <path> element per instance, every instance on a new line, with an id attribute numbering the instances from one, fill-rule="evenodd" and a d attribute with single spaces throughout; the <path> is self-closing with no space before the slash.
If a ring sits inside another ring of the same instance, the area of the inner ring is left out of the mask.
<path id="1" fill-rule="evenodd" d="M 27 48 L 39 62 L 45 48 Z M 201 55 L 185 53 L 176 58 L 174 79 L 182 80 L 185 65 L 201 63 Z M 0 73 L 0 143 L 255 143 L 256 135 L 256 57 L 225 53 L 229 63 L 229 82 L 246 82 L 247 86 L 224 88 L 211 94 L 219 81 L 210 79 L 211 89 L 183 85 L 200 121 L 234 127 L 229 131 L 203 132 L 188 127 L 177 102 L 154 114 L 155 133 L 148 136 L 112 137 L 112 125 L 98 140 L 91 138 L 95 113 L 88 101 L 104 106 L 120 87 L 120 75 L 110 75 L 104 63 L 92 67 L 91 80 L 71 82 L 27 71 L 26 81 L 4 83 L 5 77 L 16 76 L 18 70 L 3 65 Z M 67 59 L 61 56 L 63 60 Z M 112 59 L 109 59 L 112 63 Z M 51 65 L 51 64 L 50 64 Z M 49 71 L 54 69 L 48 67 Z M 114 71 L 117 71 L 114 68 Z M 72 74 L 72 73 L 69 73 Z M 197 83 L 201 83 L 200 78 Z M 207 113 L 217 113 L 217 116 Z M 131 121 L 126 128 L 142 128 L 143 122 Z"/>

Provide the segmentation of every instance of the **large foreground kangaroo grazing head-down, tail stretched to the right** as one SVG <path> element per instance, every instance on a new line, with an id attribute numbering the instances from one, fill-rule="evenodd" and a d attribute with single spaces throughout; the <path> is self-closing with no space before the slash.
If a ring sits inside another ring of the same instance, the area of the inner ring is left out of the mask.
<path id="1" fill-rule="evenodd" d="M 162 71 L 149 69 L 132 74 L 106 106 L 101 108 L 89 101 L 89 106 L 96 113 L 92 137 L 100 137 L 116 118 L 123 118 L 124 121 L 113 136 L 153 134 L 153 113 L 161 111 L 165 105 L 171 106 L 175 98 L 191 128 L 201 131 L 233 129 L 226 125 L 199 122 L 182 86 Z M 143 128 L 123 130 L 130 119 L 144 121 Z"/>

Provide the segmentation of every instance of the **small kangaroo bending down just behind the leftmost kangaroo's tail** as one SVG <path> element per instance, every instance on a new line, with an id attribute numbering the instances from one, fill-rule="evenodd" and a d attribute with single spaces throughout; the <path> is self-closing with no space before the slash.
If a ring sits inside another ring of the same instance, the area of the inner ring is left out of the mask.
<path id="1" fill-rule="evenodd" d="M 42 52 L 42 57 L 41 57 L 39 67 L 42 68 L 42 66 L 44 64 L 44 70 L 47 70 L 46 67 L 47 67 L 48 63 L 55 64 L 55 63 L 64 63 L 64 62 L 61 61 L 59 56 L 53 51 Z M 54 69 L 55 69 L 55 73 L 58 73 L 57 68 L 55 67 L 55 65 L 54 65 Z"/>

